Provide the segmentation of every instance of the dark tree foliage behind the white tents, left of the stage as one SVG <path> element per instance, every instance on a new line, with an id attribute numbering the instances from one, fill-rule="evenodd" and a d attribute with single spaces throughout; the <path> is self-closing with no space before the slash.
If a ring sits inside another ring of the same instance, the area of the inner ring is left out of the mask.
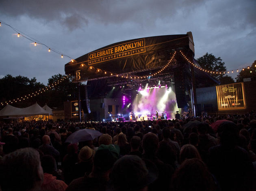
<path id="1" fill-rule="evenodd" d="M 63 109 L 63 102 L 73 100 L 76 95 L 76 84 L 71 82 L 71 79 L 64 79 L 64 75 L 57 74 L 48 79 L 48 85 L 53 84 L 51 90 L 43 91 L 37 96 L 22 100 L 21 102 L 9 103 L 15 107 L 28 107 L 37 102 L 40 106 L 47 104 L 51 108 Z M 56 84 L 56 85 L 55 85 Z M 25 95 L 35 93 L 39 89 L 45 89 L 45 85 L 37 82 L 37 79 L 28 79 L 24 76 L 13 77 L 7 74 L 0 79 L 0 102 L 16 100 Z M 2 105 L 1 105 L 2 106 Z"/>

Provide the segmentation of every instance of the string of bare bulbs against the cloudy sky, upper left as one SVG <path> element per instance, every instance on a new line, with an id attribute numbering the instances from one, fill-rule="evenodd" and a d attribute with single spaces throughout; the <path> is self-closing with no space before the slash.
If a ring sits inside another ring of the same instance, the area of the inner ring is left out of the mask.
<path id="1" fill-rule="evenodd" d="M 3 24 L 3 25 L 6 25 L 6 26 L 9 26 L 12 30 L 14 30 L 15 32 L 17 32 L 17 34 L 15 34 L 15 35 L 17 35 L 18 38 L 19 38 L 20 36 L 22 36 L 22 37 L 24 37 L 24 38 L 30 40 L 31 42 L 33 42 L 33 44 L 34 44 L 35 47 L 36 47 L 37 45 L 43 45 L 43 46 L 45 46 L 45 47 L 48 49 L 48 52 L 53 51 L 53 52 L 55 52 L 55 53 L 61 55 L 61 58 L 63 58 L 63 57 L 68 57 L 68 58 L 71 59 L 72 62 L 74 62 L 74 59 L 73 59 L 72 57 L 70 57 L 69 55 L 65 55 L 65 54 L 61 53 L 60 51 L 58 51 L 58 50 L 56 50 L 56 49 L 53 49 L 53 48 L 51 48 L 50 46 L 44 44 L 43 42 L 40 42 L 39 40 L 36 40 L 35 38 L 29 36 L 28 34 L 25 34 L 24 32 L 22 32 L 22 31 L 20 31 L 20 30 L 18 30 L 18 29 L 16 29 L 16 28 L 14 28 L 13 26 L 11 26 L 11 25 L 9 25 L 9 24 L 3 22 L 3 21 L 0 21 L 0 26 L 2 26 L 2 24 Z"/>

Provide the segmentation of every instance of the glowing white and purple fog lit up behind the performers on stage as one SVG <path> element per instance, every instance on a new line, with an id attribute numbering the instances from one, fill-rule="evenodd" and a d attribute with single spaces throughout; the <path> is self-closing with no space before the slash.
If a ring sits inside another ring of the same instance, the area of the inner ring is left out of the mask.
<path id="1" fill-rule="evenodd" d="M 165 111 L 167 118 L 173 119 L 176 111 L 179 110 L 173 89 L 167 89 L 163 86 L 161 88 L 148 88 L 147 86 L 144 89 L 139 88 L 132 104 L 133 113 L 138 115 L 150 113 L 150 116 L 152 116 L 155 115 L 157 110 L 159 117 L 161 117 L 162 112 Z"/>

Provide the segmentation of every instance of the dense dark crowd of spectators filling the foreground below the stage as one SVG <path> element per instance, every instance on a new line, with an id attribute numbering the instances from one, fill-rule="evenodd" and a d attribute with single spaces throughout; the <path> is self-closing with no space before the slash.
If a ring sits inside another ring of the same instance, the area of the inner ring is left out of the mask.
<path id="1" fill-rule="evenodd" d="M 102 135 L 66 141 L 85 128 Z M 135 122 L 0 121 L 0 132 L 2 191 L 256 190 L 254 111 Z"/>

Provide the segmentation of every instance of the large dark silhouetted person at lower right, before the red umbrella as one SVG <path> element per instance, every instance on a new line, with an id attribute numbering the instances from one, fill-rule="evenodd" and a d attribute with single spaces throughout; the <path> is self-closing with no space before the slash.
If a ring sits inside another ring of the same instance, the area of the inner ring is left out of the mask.
<path id="1" fill-rule="evenodd" d="M 247 191 L 252 185 L 253 165 L 248 152 L 238 146 L 239 129 L 233 122 L 219 125 L 220 145 L 209 150 L 208 167 L 221 190 Z"/>

